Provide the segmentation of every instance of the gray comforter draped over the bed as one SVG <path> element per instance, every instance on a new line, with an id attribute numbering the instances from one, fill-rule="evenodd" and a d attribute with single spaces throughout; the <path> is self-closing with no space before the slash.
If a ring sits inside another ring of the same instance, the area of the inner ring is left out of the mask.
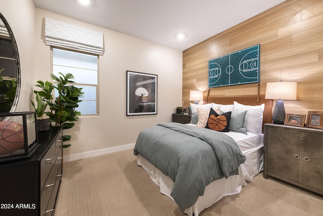
<path id="1" fill-rule="evenodd" d="M 237 175 L 246 159 L 225 133 L 175 122 L 144 129 L 134 154 L 173 180 L 171 195 L 182 211 L 191 207 L 212 181 Z"/>

